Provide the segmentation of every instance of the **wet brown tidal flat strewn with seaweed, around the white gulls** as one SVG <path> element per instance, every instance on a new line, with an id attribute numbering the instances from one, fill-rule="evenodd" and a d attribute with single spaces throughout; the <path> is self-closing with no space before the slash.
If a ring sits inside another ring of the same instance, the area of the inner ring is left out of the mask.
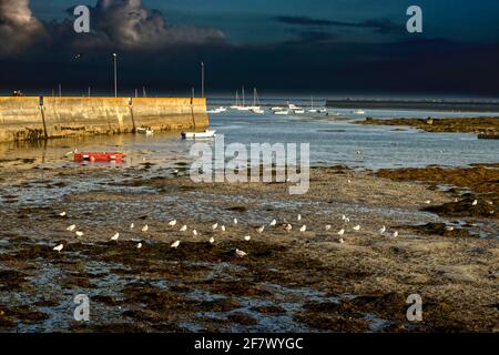
<path id="1" fill-rule="evenodd" d="M 439 187 L 457 181 L 317 168 L 309 192 L 291 196 L 287 183 L 193 183 L 184 166 L 175 176 L 154 164 L 27 164 L 0 173 L 0 331 L 499 331 L 497 217 L 428 211 L 470 205 L 462 191 Z M 415 293 L 422 322 L 406 318 Z M 89 323 L 73 321 L 77 294 L 91 300 Z"/>

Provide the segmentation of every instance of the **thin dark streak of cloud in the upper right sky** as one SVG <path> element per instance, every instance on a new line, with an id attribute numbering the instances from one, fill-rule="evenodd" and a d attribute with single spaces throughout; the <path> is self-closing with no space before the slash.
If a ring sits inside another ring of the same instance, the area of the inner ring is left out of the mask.
<path id="1" fill-rule="evenodd" d="M 378 33 L 400 32 L 405 29 L 405 26 L 397 24 L 389 19 L 370 19 L 359 22 L 346 22 L 346 21 L 314 19 L 309 17 L 278 16 L 275 17 L 274 20 L 281 23 L 294 26 L 330 26 L 330 27 L 371 29 Z"/>

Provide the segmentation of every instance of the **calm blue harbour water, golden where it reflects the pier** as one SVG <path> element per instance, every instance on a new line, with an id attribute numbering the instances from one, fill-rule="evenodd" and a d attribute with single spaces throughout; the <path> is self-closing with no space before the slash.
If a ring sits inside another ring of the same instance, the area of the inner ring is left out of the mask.
<path id="1" fill-rule="evenodd" d="M 227 111 L 212 114 L 212 128 L 224 134 L 225 143 L 309 143 L 314 164 L 345 164 L 356 169 L 399 166 L 468 165 L 499 161 L 499 140 L 478 140 L 476 134 L 425 133 L 409 128 L 370 126 L 352 121 L 373 118 L 478 116 L 485 113 L 366 110 L 330 110 L 349 120 L 332 118 L 278 116 L 266 113 Z M 493 113 L 490 113 L 492 115 Z M 496 113 L 497 115 L 497 113 Z M 207 141 L 208 143 L 211 141 Z M 179 133 L 144 135 L 88 136 L 52 140 L 47 143 L 0 144 L 0 159 L 35 159 L 37 163 L 65 164 L 65 153 L 79 150 L 120 150 L 128 154 L 124 165 L 153 162 L 173 166 L 190 162 L 192 141 L 183 141 Z M 213 143 L 211 143 L 213 144 Z M 361 151 L 361 154 L 356 154 Z"/>

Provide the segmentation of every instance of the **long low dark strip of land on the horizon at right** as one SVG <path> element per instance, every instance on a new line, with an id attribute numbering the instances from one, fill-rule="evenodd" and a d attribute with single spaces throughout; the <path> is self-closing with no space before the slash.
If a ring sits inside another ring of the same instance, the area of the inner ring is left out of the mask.
<path id="1" fill-rule="evenodd" d="M 327 108 L 335 109 L 400 109 L 431 111 L 499 112 L 499 102 L 417 101 L 417 100 L 327 100 Z"/>

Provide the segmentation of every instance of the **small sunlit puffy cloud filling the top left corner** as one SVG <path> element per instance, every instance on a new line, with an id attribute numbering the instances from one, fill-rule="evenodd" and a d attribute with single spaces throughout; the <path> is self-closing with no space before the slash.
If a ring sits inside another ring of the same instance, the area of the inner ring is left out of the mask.
<path id="1" fill-rule="evenodd" d="M 0 0 L 0 55 L 16 54 L 48 40 L 42 23 L 29 8 L 29 0 Z"/>

